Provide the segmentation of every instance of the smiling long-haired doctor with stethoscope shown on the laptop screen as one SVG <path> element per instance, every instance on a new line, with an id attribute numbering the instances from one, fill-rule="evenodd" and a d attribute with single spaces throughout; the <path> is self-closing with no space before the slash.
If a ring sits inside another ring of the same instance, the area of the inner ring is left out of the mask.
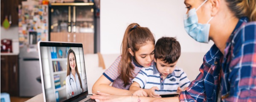
<path id="1" fill-rule="evenodd" d="M 70 49 L 67 55 L 67 77 L 66 77 L 66 92 L 67 99 L 84 92 L 85 85 L 81 79 L 82 76 L 78 72 L 75 52 Z"/>

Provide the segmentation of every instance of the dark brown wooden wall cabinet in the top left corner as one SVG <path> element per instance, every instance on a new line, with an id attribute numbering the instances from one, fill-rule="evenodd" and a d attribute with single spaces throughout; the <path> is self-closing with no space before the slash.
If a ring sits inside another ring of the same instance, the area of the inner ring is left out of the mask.
<path id="1" fill-rule="evenodd" d="M 1 0 L 1 26 L 6 16 L 8 20 L 10 18 L 12 19 L 11 26 L 18 25 L 18 21 L 19 21 L 18 6 L 21 5 L 21 1 L 23 0 Z"/>

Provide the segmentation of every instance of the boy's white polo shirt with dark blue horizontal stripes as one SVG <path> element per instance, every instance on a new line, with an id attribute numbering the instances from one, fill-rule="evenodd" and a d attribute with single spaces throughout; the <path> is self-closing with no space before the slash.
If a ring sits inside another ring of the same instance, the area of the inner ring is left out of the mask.
<path id="1" fill-rule="evenodd" d="M 141 69 L 139 74 L 132 81 L 139 83 L 140 87 L 144 89 L 150 89 L 154 86 L 158 87 L 160 90 L 155 91 L 157 94 L 176 93 L 178 87 L 184 90 L 190 83 L 189 79 L 186 77 L 186 73 L 183 72 L 182 68 L 178 67 L 175 67 L 172 74 L 169 74 L 166 79 L 161 82 L 160 73 L 156 65 Z"/>

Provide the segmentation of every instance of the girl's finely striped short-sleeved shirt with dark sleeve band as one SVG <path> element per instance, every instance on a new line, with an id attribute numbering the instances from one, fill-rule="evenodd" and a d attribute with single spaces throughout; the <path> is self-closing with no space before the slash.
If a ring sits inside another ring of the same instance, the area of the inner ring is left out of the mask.
<path id="1" fill-rule="evenodd" d="M 112 86 L 115 88 L 119 88 L 119 89 L 125 89 L 125 90 L 129 90 L 130 86 L 131 86 L 131 81 L 134 77 L 137 76 L 137 74 L 140 72 L 140 70 L 143 68 L 143 66 L 138 65 L 137 63 L 135 63 L 133 61 L 133 59 L 131 60 L 131 64 L 134 66 L 134 70 L 131 70 L 131 74 L 133 78 L 130 78 L 129 81 L 129 85 L 127 85 L 126 87 L 124 87 L 124 82 L 122 81 L 121 78 L 121 64 L 119 65 L 120 61 L 121 61 L 121 56 L 117 57 L 115 62 L 113 62 L 113 64 L 103 73 L 103 75 L 108 78 L 111 82 L 113 82 Z M 151 65 L 154 65 L 154 60 L 151 62 Z"/>

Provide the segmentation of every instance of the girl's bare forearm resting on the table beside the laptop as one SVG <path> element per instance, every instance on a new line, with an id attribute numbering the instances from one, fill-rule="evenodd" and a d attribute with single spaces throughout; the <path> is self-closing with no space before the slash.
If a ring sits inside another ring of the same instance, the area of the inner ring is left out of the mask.
<path id="1" fill-rule="evenodd" d="M 124 89 L 114 88 L 110 86 L 111 81 L 104 75 L 99 77 L 99 79 L 93 85 L 93 93 L 97 94 L 97 91 L 111 94 L 111 95 L 131 95 L 134 91 L 128 91 Z"/>

